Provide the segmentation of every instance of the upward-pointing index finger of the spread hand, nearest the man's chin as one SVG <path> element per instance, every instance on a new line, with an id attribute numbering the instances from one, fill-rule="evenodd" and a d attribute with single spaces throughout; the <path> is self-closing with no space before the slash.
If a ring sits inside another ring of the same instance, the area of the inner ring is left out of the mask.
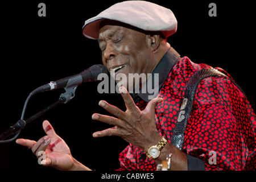
<path id="1" fill-rule="evenodd" d="M 121 93 L 121 96 L 123 97 L 123 101 L 125 101 L 125 105 L 127 109 L 130 109 L 133 111 L 135 114 L 139 114 L 140 110 L 138 107 L 135 105 L 133 98 L 130 96 L 129 92 L 124 86 L 121 86 L 119 88 L 119 92 Z"/>

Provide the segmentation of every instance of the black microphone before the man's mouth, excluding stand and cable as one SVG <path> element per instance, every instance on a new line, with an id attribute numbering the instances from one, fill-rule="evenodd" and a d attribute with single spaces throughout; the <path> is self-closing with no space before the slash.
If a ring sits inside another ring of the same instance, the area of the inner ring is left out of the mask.
<path id="1" fill-rule="evenodd" d="M 61 78 L 57 81 L 51 81 L 49 84 L 40 86 L 34 91 L 36 91 L 36 93 L 46 92 L 49 90 L 65 88 L 69 85 L 80 85 L 82 82 L 94 82 L 97 81 L 97 77 L 100 73 L 108 74 L 108 69 L 102 64 L 95 64 L 77 75 Z"/>

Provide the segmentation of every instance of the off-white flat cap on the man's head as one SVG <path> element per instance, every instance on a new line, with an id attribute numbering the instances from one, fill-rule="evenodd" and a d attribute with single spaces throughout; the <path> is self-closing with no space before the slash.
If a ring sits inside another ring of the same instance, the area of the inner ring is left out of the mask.
<path id="1" fill-rule="evenodd" d="M 147 1 L 123 1 L 86 20 L 82 34 L 89 39 L 98 39 L 103 19 L 116 20 L 146 31 L 161 31 L 166 37 L 177 30 L 177 20 L 170 9 Z"/>

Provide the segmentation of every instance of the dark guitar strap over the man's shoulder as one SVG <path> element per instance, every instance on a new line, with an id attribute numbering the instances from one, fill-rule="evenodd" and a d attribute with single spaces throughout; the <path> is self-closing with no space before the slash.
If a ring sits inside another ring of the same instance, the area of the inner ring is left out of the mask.
<path id="1" fill-rule="evenodd" d="M 226 76 L 224 73 L 221 73 L 217 69 L 210 68 L 210 69 L 201 69 L 200 71 L 196 72 L 193 77 L 188 82 L 187 88 L 185 90 L 183 102 L 180 106 L 179 116 L 177 118 L 174 131 L 172 134 L 171 144 L 179 148 L 179 150 L 183 149 L 184 144 L 184 131 L 187 126 L 188 118 L 191 113 L 191 109 L 193 106 L 194 97 L 196 94 L 197 86 L 206 77 L 218 77 L 218 76 Z M 232 81 L 238 89 L 241 90 L 243 94 L 245 94 L 240 86 L 236 84 L 231 78 L 229 78 L 230 81 Z"/>

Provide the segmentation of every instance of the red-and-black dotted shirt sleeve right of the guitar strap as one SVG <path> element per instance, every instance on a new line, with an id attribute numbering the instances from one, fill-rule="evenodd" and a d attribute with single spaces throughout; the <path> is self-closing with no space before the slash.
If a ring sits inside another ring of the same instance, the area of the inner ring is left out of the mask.
<path id="1" fill-rule="evenodd" d="M 255 169 L 255 114 L 226 78 L 201 81 L 184 133 L 184 150 L 206 170 Z"/>

